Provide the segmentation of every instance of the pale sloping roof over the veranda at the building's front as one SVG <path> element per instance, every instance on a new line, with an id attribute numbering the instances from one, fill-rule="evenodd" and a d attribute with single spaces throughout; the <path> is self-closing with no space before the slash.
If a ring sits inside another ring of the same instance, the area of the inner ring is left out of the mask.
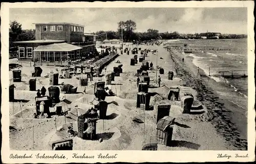
<path id="1" fill-rule="evenodd" d="M 54 43 L 49 45 L 39 45 L 34 51 L 46 51 L 46 52 L 61 52 L 61 51 L 74 51 L 82 49 L 80 46 L 72 45 L 69 43 Z"/>

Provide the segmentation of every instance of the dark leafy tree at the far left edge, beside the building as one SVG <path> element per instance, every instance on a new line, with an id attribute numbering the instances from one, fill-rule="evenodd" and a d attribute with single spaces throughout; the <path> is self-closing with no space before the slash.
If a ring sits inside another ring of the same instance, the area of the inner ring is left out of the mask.
<path id="1" fill-rule="evenodd" d="M 18 36 L 22 34 L 22 25 L 16 20 L 9 23 L 9 46 L 13 46 L 13 42 L 18 40 Z"/>

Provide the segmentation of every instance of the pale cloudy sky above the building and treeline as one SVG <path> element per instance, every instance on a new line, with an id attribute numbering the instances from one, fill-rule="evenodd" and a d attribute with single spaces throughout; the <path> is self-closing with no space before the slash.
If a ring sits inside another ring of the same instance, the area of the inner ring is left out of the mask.
<path id="1" fill-rule="evenodd" d="M 33 23 L 70 22 L 88 33 L 116 31 L 119 21 L 131 19 L 138 32 L 247 34 L 246 8 L 11 8 L 9 16 L 24 30 L 35 29 Z"/>

